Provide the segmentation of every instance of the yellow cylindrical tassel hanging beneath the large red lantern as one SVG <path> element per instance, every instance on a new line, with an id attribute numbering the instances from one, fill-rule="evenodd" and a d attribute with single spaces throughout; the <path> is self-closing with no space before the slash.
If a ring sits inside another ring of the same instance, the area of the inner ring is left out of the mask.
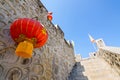
<path id="1" fill-rule="evenodd" d="M 33 52 L 33 44 L 29 41 L 20 42 L 16 48 L 16 55 L 23 58 L 31 58 Z"/>

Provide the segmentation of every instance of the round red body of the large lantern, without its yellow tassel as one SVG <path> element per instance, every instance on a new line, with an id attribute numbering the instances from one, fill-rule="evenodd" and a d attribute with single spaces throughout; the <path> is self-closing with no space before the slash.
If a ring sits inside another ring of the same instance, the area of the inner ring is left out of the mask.
<path id="1" fill-rule="evenodd" d="M 40 22 L 29 18 L 15 20 L 10 26 L 10 34 L 16 43 L 27 41 L 32 43 L 34 48 L 42 47 L 48 39 L 48 33 L 44 26 Z"/>

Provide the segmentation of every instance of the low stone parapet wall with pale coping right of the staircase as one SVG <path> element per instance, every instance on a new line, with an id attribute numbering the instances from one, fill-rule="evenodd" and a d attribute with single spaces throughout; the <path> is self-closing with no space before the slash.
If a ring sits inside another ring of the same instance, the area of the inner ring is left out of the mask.
<path id="1" fill-rule="evenodd" d="M 107 61 L 111 67 L 120 75 L 120 48 L 119 47 L 101 47 L 99 48 L 98 57 Z"/>

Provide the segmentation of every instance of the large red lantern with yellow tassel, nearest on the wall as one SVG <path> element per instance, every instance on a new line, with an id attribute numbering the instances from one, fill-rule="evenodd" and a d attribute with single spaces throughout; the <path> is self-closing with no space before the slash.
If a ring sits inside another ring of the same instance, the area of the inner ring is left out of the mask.
<path id="1" fill-rule="evenodd" d="M 29 18 L 15 20 L 10 26 L 10 34 L 18 43 L 16 54 L 23 58 L 32 57 L 33 48 L 42 47 L 48 39 L 45 27 L 40 22 Z"/>

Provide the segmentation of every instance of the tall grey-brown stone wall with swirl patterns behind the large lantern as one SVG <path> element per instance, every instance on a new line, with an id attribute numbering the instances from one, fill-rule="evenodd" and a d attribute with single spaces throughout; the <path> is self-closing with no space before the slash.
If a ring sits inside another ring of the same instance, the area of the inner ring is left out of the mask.
<path id="1" fill-rule="evenodd" d="M 66 80 L 75 64 L 74 48 L 60 27 L 47 20 L 47 12 L 39 0 L 0 0 L 0 80 Z M 15 55 L 9 34 L 11 22 L 24 17 L 37 18 L 49 34 L 30 59 Z"/>

